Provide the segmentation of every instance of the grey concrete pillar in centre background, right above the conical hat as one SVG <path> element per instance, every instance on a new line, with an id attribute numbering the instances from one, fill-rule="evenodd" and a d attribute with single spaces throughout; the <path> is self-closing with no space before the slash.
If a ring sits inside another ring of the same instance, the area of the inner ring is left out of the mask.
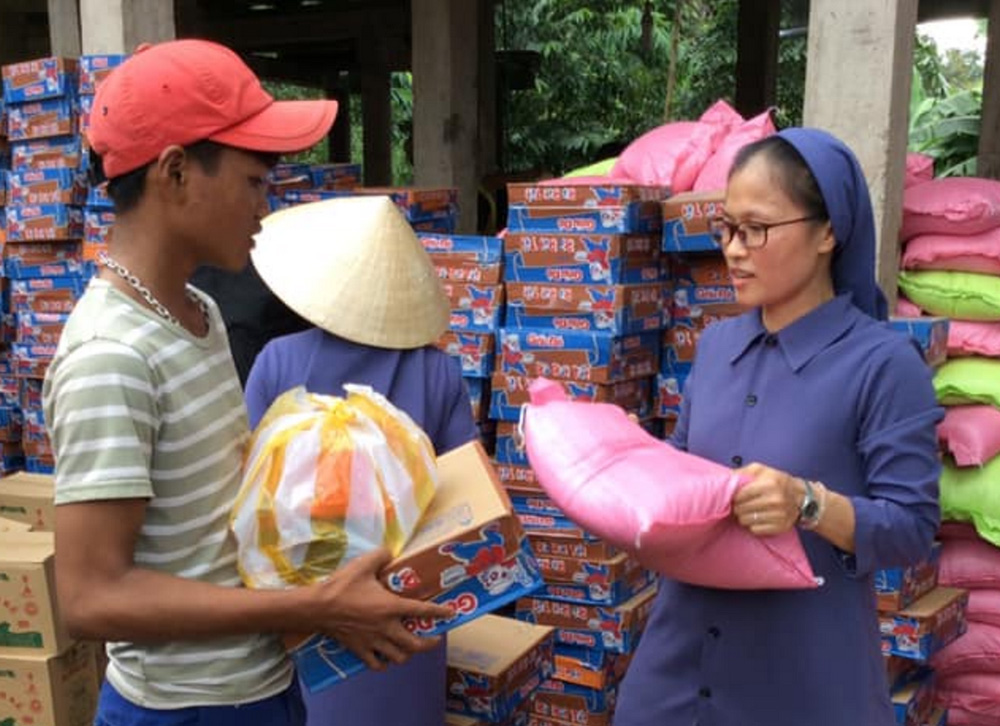
<path id="1" fill-rule="evenodd" d="M 458 188 L 460 232 L 476 228 L 479 17 L 485 0 L 412 0 L 414 176 Z"/>

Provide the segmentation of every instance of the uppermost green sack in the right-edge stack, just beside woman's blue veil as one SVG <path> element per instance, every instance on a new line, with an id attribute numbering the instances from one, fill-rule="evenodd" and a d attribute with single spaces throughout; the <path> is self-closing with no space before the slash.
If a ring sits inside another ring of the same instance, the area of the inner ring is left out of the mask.
<path id="1" fill-rule="evenodd" d="M 932 315 L 957 320 L 1000 320 L 1000 277 L 945 270 L 903 271 L 899 287 Z"/>

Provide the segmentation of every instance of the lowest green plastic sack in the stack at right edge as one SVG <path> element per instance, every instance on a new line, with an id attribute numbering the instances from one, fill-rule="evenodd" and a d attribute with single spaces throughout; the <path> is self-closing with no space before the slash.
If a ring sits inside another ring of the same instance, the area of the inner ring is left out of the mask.
<path id="1" fill-rule="evenodd" d="M 957 467 L 951 459 L 945 460 L 941 517 L 972 522 L 980 537 L 1000 547 L 1000 456 L 982 467 Z"/>

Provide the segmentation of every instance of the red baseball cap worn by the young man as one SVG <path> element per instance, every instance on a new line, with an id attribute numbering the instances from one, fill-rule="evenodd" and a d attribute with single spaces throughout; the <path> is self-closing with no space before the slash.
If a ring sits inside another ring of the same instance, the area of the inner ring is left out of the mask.
<path id="1" fill-rule="evenodd" d="M 104 79 L 87 138 L 113 179 L 174 144 L 304 151 L 329 132 L 336 116 L 336 101 L 275 101 L 225 46 L 172 40 L 140 47 Z"/>

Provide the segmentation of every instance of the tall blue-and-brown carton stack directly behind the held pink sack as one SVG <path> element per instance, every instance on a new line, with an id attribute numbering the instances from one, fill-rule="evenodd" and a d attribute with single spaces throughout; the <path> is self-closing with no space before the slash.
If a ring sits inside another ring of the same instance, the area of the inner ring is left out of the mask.
<path id="1" fill-rule="evenodd" d="M 664 327 L 659 187 L 509 187 L 507 323 L 497 341 L 496 460 L 545 576 L 515 616 L 555 628 L 555 669 L 531 723 L 609 724 L 617 685 L 652 603 L 652 575 L 563 516 L 541 491 L 517 423 L 537 377 L 616 403 L 650 425 Z"/>

